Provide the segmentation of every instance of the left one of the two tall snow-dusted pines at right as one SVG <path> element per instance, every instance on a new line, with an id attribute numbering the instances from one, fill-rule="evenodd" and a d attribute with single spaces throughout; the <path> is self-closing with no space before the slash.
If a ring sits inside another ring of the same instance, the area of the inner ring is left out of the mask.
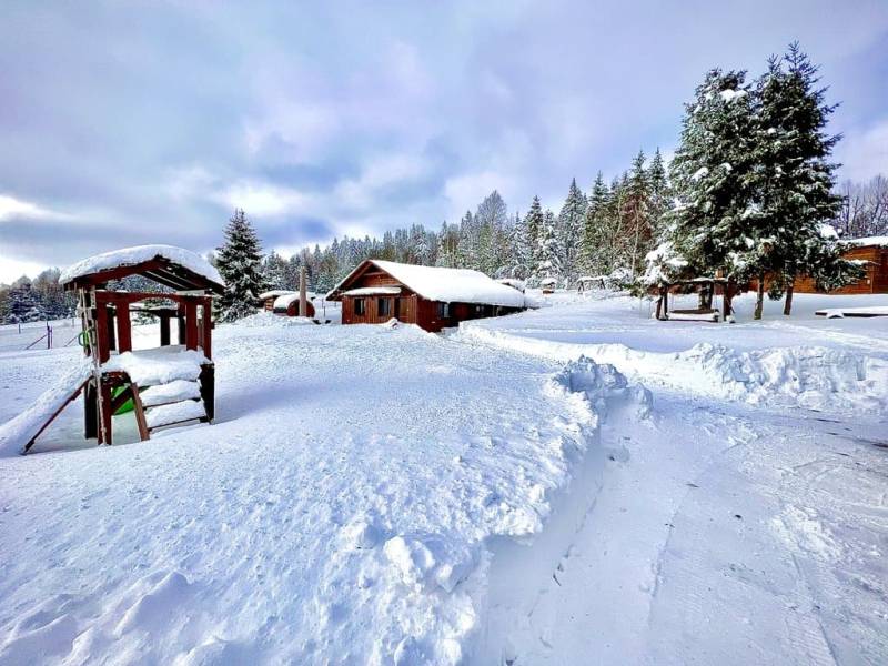
<path id="1" fill-rule="evenodd" d="M 714 69 L 686 104 L 669 167 L 676 204 L 662 241 L 693 276 L 722 272 L 740 280 L 758 271 L 766 246 L 750 215 L 753 113 L 746 72 Z"/>

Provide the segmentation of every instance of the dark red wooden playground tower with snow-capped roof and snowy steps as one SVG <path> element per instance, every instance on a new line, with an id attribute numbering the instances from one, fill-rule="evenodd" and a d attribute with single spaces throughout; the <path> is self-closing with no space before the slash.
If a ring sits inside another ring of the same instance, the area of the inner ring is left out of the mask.
<path id="1" fill-rule="evenodd" d="M 120 258 L 117 263 L 115 254 Z M 215 269 L 196 254 L 168 245 L 107 253 L 75 264 L 74 269 L 78 265 L 85 270 L 63 274 L 62 283 L 77 294 L 80 342 L 91 360 L 91 371 L 84 364 L 87 370 L 68 377 L 67 386 L 47 392 L 48 404 L 37 412 L 23 452 L 80 394 L 84 405 L 83 434 L 99 444 L 113 442 L 112 416 L 123 411 L 134 413 L 142 441 L 161 427 L 212 422 L 212 297 L 224 291 Z M 112 281 L 132 275 L 171 291 L 109 287 Z M 130 315 L 134 311 L 159 320 L 159 347 L 133 350 Z"/>

